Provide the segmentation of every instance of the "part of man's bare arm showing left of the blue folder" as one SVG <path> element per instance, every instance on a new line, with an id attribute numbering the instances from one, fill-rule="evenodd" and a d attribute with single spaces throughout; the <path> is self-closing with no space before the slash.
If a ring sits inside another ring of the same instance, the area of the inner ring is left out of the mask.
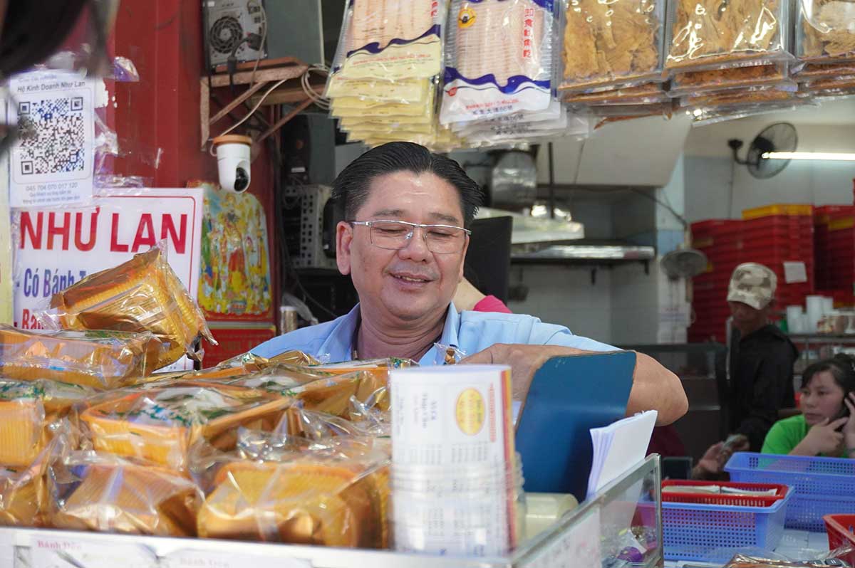
<path id="1" fill-rule="evenodd" d="M 554 345 L 509 345 L 495 343 L 480 353 L 461 360 L 469 365 L 507 365 L 510 366 L 511 391 L 515 401 L 525 404 L 528 387 L 532 384 L 534 373 L 552 357 L 589 354 L 591 351 Z"/>

